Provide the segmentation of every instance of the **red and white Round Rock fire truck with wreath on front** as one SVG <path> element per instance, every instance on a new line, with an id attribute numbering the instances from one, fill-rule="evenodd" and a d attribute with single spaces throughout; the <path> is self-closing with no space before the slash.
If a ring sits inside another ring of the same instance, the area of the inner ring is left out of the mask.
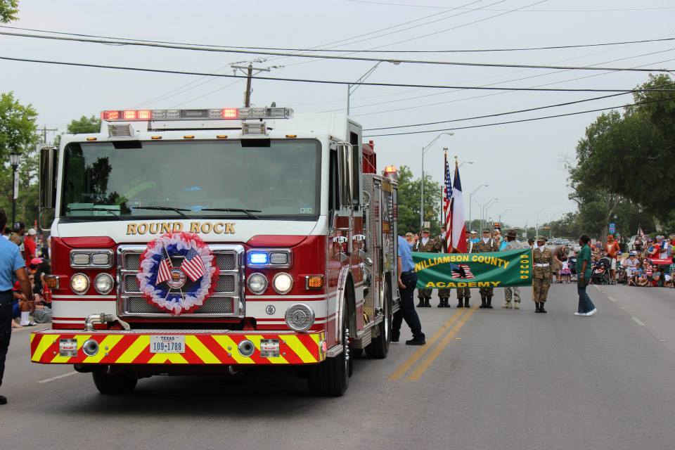
<path id="1" fill-rule="evenodd" d="M 108 110 L 40 155 L 51 330 L 32 361 L 103 394 L 151 375 L 294 365 L 341 395 L 398 308 L 397 184 L 344 115 Z M 53 220 L 52 220 L 53 219 Z"/>

